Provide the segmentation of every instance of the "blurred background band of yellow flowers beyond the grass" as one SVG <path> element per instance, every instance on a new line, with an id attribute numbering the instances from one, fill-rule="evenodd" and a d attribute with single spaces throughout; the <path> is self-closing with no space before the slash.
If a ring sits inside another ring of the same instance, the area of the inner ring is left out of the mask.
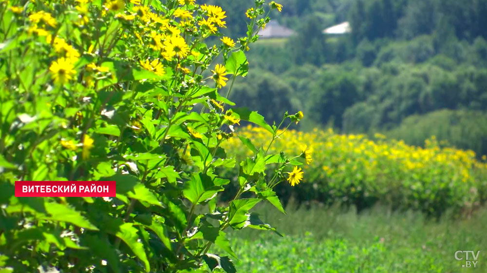
<path id="1" fill-rule="evenodd" d="M 252 139 L 256 147 L 267 147 L 269 133 L 246 127 L 239 136 Z M 332 129 L 304 133 L 289 130 L 275 141 L 276 152 L 300 154 L 302 143 L 312 150 L 303 183 L 290 187 L 285 183 L 277 191 L 286 199 L 293 195 L 299 202 L 318 200 L 356 205 L 358 209 L 375 203 L 393 209 L 418 209 L 439 215 L 448 208 L 471 210 L 486 200 L 487 164 L 472 151 L 443 147 L 435 137 L 425 147 L 406 145 L 376 134 L 339 135 Z M 251 153 L 234 137 L 227 144 L 237 158 Z M 231 147 L 231 148 L 230 148 Z"/>

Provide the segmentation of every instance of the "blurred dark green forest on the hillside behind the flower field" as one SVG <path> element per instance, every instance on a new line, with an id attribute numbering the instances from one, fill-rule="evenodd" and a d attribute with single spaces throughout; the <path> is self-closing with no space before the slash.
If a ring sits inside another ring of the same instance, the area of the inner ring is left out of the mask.
<path id="1" fill-rule="evenodd" d="M 232 34 L 252 0 L 212 0 Z M 272 14 L 294 30 L 261 39 L 231 99 L 268 121 L 304 109 L 300 130 L 376 132 L 487 154 L 487 0 L 283 0 Z M 325 35 L 348 21 L 352 32 Z"/>

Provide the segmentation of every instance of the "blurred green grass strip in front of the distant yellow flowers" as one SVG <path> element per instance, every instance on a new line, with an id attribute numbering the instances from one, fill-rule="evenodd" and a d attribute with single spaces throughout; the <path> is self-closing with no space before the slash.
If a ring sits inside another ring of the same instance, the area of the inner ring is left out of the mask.
<path id="1" fill-rule="evenodd" d="M 254 230 L 233 233 L 238 272 L 487 272 L 487 209 L 471 219 L 445 215 L 439 221 L 381 208 L 359 215 L 318 206 L 288 207 L 288 215 L 267 206 L 257 211 L 284 237 Z M 457 250 L 480 250 L 476 268 L 462 268 L 465 256 L 456 260 Z"/>

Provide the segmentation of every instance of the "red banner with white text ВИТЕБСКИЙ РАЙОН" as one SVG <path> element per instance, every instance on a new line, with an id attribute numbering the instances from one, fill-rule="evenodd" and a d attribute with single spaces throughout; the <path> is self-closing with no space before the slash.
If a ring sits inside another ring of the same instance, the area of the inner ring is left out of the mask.
<path id="1" fill-rule="evenodd" d="M 15 181 L 16 197 L 115 197 L 115 181 Z"/>

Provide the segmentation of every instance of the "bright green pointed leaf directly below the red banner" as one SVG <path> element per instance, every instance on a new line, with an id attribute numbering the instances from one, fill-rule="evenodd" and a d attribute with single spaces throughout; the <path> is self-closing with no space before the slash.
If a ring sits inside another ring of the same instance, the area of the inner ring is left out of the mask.
<path id="1" fill-rule="evenodd" d="M 96 226 L 86 220 L 81 213 L 68 205 L 58 203 L 47 203 L 45 205 L 46 211 L 49 214 L 48 217 L 41 217 L 46 220 L 69 222 L 79 227 L 83 227 L 91 230 L 98 230 Z"/>

